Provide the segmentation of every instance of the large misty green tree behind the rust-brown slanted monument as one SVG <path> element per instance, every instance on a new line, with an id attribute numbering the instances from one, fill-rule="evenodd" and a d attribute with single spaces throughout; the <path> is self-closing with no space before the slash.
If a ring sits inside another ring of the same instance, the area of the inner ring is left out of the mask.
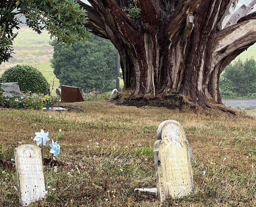
<path id="1" fill-rule="evenodd" d="M 54 45 L 51 60 L 61 85 L 95 88 L 101 92 L 116 87 L 116 50 L 109 40 L 92 36 L 90 41 Z"/>

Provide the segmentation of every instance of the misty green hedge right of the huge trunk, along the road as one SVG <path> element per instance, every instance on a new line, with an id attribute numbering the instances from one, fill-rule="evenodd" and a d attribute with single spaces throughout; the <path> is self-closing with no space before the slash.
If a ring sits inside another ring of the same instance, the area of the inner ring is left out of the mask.
<path id="1" fill-rule="evenodd" d="M 251 57 L 228 65 L 220 76 L 222 99 L 256 98 L 256 61 Z"/>

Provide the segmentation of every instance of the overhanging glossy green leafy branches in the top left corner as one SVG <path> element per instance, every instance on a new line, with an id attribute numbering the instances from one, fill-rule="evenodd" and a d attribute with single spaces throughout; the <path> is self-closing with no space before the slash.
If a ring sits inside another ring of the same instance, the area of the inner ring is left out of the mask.
<path id="1" fill-rule="evenodd" d="M 21 22 L 24 15 L 26 22 Z M 20 23 L 26 23 L 38 34 L 49 31 L 58 42 L 84 41 L 88 37 L 86 11 L 76 0 L 4 0 L 0 1 L 0 64 L 8 61 L 12 52 L 12 41 Z M 5 37 L 7 36 L 7 37 Z M 4 40 L 2 38 L 5 37 Z"/>

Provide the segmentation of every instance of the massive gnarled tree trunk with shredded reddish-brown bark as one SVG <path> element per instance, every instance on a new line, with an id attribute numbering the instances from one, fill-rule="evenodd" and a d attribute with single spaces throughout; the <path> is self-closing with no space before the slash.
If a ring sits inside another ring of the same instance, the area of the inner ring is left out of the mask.
<path id="1" fill-rule="evenodd" d="M 89 2 L 94 9 L 81 3 L 89 11 L 87 26 L 94 25 L 93 33 L 119 51 L 124 89 L 133 96 L 175 92 L 194 104 L 225 110 L 216 106 L 222 104 L 220 74 L 256 41 L 255 14 L 228 22 L 238 0 L 135 0 L 136 21 L 120 9 L 125 1 Z"/>

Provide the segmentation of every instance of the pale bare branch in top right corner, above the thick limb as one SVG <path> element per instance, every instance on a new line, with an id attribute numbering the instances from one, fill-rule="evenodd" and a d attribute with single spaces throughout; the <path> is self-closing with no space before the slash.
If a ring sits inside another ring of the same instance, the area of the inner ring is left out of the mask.
<path id="1" fill-rule="evenodd" d="M 255 4 L 256 0 L 252 0 L 250 4 L 248 4 L 248 6 L 243 4 L 235 13 L 232 14 L 224 28 L 236 24 L 239 19 L 244 17 L 246 14 L 248 14 L 248 12 L 250 12 L 253 9 L 253 6 Z"/>

